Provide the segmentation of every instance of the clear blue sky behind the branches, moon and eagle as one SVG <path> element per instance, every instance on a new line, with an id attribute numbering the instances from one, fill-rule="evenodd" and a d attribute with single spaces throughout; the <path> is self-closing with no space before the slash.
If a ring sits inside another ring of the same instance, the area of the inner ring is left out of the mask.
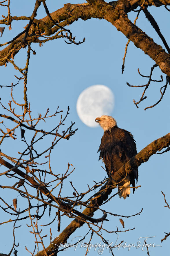
<path id="1" fill-rule="evenodd" d="M 49 11 L 55 11 L 61 8 L 67 1 L 46 1 Z M 71 1 L 71 3 L 76 3 Z M 78 1 L 77 1 L 78 3 Z M 11 2 L 11 15 L 25 15 L 30 16 L 34 8 L 34 1 L 25 2 L 15 1 Z M 168 11 L 163 8 L 150 7 L 149 11 L 155 17 L 160 30 L 169 43 L 170 35 L 167 33 L 168 27 Z M 6 15 L 5 8 L 1 7 L 1 13 Z M 41 6 L 37 13 L 37 19 L 45 17 L 45 11 Z M 130 13 L 129 17 L 134 21 L 136 13 Z M 11 40 L 23 29 L 27 22 L 12 22 L 12 30 L 5 29 L 3 36 L 1 37 L 1 43 Z M 145 19 L 144 14 L 140 13 L 139 19 L 136 22 L 142 30 L 149 34 L 153 40 L 162 45 L 162 42 L 158 35 L 154 32 L 150 23 Z M 65 182 L 63 187 L 63 196 L 72 194 L 72 188 L 69 180 L 71 180 L 76 187 L 77 191 L 84 192 L 87 190 L 87 184 L 92 186 L 93 180 L 96 182 L 103 179 L 106 175 L 103 168 L 101 168 L 101 161 L 98 162 L 97 150 L 100 145 L 100 140 L 103 135 L 103 130 L 100 127 L 91 128 L 87 127 L 78 118 L 76 113 L 76 102 L 80 93 L 87 87 L 95 84 L 103 84 L 108 86 L 114 93 L 115 104 L 114 110 L 111 115 L 116 119 L 118 127 L 130 131 L 136 140 L 138 152 L 145 146 L 151 143 L 153 140 L 160 138 L 169 132 L 169 87 L 164 95 L 160 104 L 153 109 L 147 109 L 146 106 L 153 105 L 160 98 L 160 87 L 165 84 L 165 75 L 163 75 L 163 83 L 151 83 L 146 93 L 147 99 L 145 99 L 137 109 L 133 103 L 133 99 L 138 101 L 143 92 L 142 88 L 130 88 L 126 85 L 126 81 L 133 85 L 141 85 L 147 83 L 147 79 L 139 76 L 137 69 L 145 75 L 149 75 L 150 68 L 155 64 L 149 56 L 145 55 L 140 49 L 136 48 L 132 42 L 130 42 L 127 56 L 125 59 L 125 71 L 121 75 L 122 58 L 124 56 L 124 49 L 127 43 L 127 38 L 116 30 L 114 26 L 105 20 L 90 19 L 87 21 L 78 20 L 74 22 L 69 29 L 71 29 L 73 35 L 76 36 L 76 40 L 82 40 L 86 38 L 85 42 L 79 46 L 67 45 L 63 39 L 57 39 L 54 41 L 43 44 L 43 47 L 39 47 L 37 44 L 32 44 L 32 49 L 35 49 L 36 55 L 31 54 L 30 67 L 28 72 L 28 100 L 31 104 L 32 113 L 45 113 L 46 109 L 50 109 L 50 113 L 53 113 L 57 106 L 66 113 L 67 106 L 70 106 L 70 114 L 66 120 L 66 126 L 70 125 L 71 121 L 76 122 L 74 127 L 78 128 L 78 131 L 69 141 L 63 140 L 57 144 L 51 155 L 51 165 L 54 173 L 65 173 L 67 169 L 67 163 L 72 163 L 75 168 L 72 175 Z M 164 47 L 163 47 L 164 48 Z M 26 51 L 22 49 L 14 59 L 20 67 L 24 67 L 26 61 Z M 16 81 L 14 74 L 19 76 L 17 70 L 14 70 L 10 63 L 7 67 L 1 67 L 1 85 L 11 84 Z M 158 67 L 153 72 L 154 79 L 159 79 L 161 72 Z M 10 100 L 10 90 L 2 88 L 1 99 L 5 106 L 8 106 Z M 23 88 L 20 83 L 14 89 L 14 98 L 16 101 L 23 99 Z M 5 113 L 1 109 L 1 113 Z M 103 113 L 105 114 L 105 113 Z M 42 124 L 44 129 L 50 130 L 54 125 L 59 122 L 60 116 L 55 119 L 49 120 L 45 124 Z M 10 129 L 13 127 L 12 122 L 5 121 L 4 124 Z M 25 135 L 26 138 L 29 134 Z M 45 140 L 40 144 L 41 147 L 47 147 L 51 141 Z M 13 141 L 11 138 L 6 139 L 5 143 L 1 146 L 1 151 L 18 156 L 18 151 L 24 148 L 23 143 L 20 141 L 18 134 L 17 140 Z M 1 172 L 4 168 L 1 168 Z M 164 237 L 164 232 L 169 232 L 169 209 L 165 208 L 164 198 L 161 194 L 161 190 L 165 193 L 167 202 L 170 202 L 169 196 L 169 153 L 162 155 L 153 155 L 147 163 L 143 163 L 139 167 L 139 179 L 138 185 L 141 188 L 137 189 L 134 195 L 130 195 L 126 200 L 119 199 L 118 196 L 109 201 L 103 206 L 103 209 L 109 212 L 120 215 L 132 215 L 139 212 L 142 208 L 143 211 L 140 216 L 124 219 L 125 229 L 131 229 L 135 227 L 135 230 L 120 233 L 118 242 L 124 240 L 129 243 L 138 242 L 139 237 L 154 237 L 149 240 L 150 243 L 155 245 L 161 245 L 162 247 L 150 248 L 150 255 L 164 255 L 169 251 L 168 239 L 160 243 L 160 239 Z M 12 181 L 11 181 L 12 182 Z M 5 183 L 6 184 L 6 183 Z M 6 184 L 7 185 L 7 184 Z M 56 191 L 56 195 L 58 191 Z M 2 193 L 2 192 L 1 192 Z M 13 199 L 14 192 L 4 190 L 8 202 L 10 198 Z M 115 190 L 113 191 L 115 193 Z M 15 194 L 17 196 L 17 194 Z M 21 197 L 18 198 L 18 207 L 22 209 Z M 50 221 L 55 216 L 55 209 L 53 215 L 51 214 Z M 100 212 L 96 212 L 94 217 L 101 217 Z M 1 212 L 1 220 L 7 221 L 13 216 L 6 216 Z M 105 228 L 112 231 L 118 229 L 123 230 L 118 217 L 107 217 L 109 222 L 104 223 Z M 71 219 L 62 217 L 61 230 L 63 230 Z M 1 222 L 2 222 L 1 221 Z M 44 225 L 50 222 L 48 219 L 48 213 L 41 221 L 40 225 Z M 17 250 L 19 255 L 25 252 L 25 246 L 28 249 L 33 250 L 34 237 L 29 233 L 31 228 L 26 226 L 26 223 L 30 224 L 29 220 L 23 222 L 22 227 L 16 230 L 16 243 L 20 243 Z M 167 225 L 168 223 L 168 225 Z M 1 253 L 8 253 L 9 248 L 12 246 L 12 225 L 10 223 L 1 225 Z M 54 223 L 52 228 L 52 237 L 57 236 L 57 223 Z M 68 239 L 71 243 L 71 239 L 75 236 L 83 236 L 88 230 L 87 226 L 83 226 Z M 43 234 L 47 234 L 48 237 L 45 240 L 45 245 L 49 245 L 50 233 L 49 227 L 45 228 Z M 116 234 L 103 234 L 105 239 L 116 242 Z M 90 235 L 88 235 L 85 242 L 88 242 Z M 144 240 L 144 239 L 143 239 Z M 142 240 L 142 242 L 143 242 Z M 99 243 L 100 238 L 94 236 L 93 243 Z M 8 248 L 8 249 L 7 249 Z M 83 248 L 74 248 L 65 251 L 65 255 L 85 255 Z M 147 255 L 146 250 L 142 251 L 141 248 L 131 248 L 128 251 L 127 248 L 120 248 L 115 250 L 115 255 Z M 93 249 L 91 249 L 89 255 L 98 255 Z M 104 253 L 103 253 L 104 255 Z M 109 251 L 105 250 L 105 255 L 109 255 Z"/>

